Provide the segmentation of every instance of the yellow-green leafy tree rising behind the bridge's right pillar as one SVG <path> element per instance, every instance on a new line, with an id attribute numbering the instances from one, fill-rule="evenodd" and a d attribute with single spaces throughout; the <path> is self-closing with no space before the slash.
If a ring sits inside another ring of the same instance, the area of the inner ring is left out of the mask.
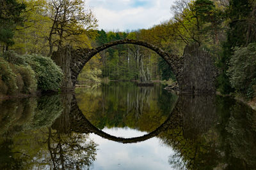
<path id="1" fill-rule="evenodd" d="M 210 0 L 179 0 L 171 8 L 174 17 L 171 20 L 172 34 L 187 45 L 191 42 L 219 43 L 221 33 L 221 10 Z"/>

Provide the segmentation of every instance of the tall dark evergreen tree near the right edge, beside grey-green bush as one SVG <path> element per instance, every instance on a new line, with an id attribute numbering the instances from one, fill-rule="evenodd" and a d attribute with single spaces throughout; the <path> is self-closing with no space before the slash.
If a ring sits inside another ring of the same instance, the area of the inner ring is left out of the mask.
<path id="1" fill-rule="evenodd" d="M 221 68 L 221 74 L 218 76 L 218 88 L 222 93 L 228 94 L 233 92 L 228 80 L 227 70 L 230 58 L 234 54 L 235 46 L 246 46 L 248 43 L 256 41 L 255 38 L 248 39 L 248 18 L 252 13 L 253 3 L 250 0 L 230 0 L 230 5 L 226 11 L 226 20 L 230 20 L 227 30 L 227 40 L 223 43 L 223 54 L 218 61 Z"/>

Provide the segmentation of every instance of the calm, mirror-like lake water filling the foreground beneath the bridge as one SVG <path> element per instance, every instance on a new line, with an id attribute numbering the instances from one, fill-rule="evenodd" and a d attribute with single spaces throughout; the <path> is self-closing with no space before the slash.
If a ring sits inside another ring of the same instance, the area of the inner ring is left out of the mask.
<path id="1" fill-rule="evenodd" d="M 256 113 L 130 82 L 0 101 L 0 169 L 256 169 Z"/>

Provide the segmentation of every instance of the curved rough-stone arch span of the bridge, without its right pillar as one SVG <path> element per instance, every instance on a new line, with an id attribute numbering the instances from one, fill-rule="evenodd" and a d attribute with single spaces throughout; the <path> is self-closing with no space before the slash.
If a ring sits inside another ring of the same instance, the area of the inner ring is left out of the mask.
<path id="1" fill-rule="evenodd" d="M 182 63 L 183 57 L 166 53 L 157 46 L 154 46 L 145 41 L 139 41 L 135 39 L 120 39 L 118 41 L 112 41 L 92 49 L 80 48 L 80 49 L 73 50 L 72 47 L 65 46 L 63 48 L 59 48 L 57 52 L 54 52 L 52 54 L 52 59 L 55 62 L 57 62 L 57 65 L 59 66 L 63 64 L 63 63 L 60 63 L 60 62 L 63 62 L 63 60 L 70 60 L 70 64 L 66 64 L 66 66 L 64 67 L 67 67 L 67 65 L 69 65 L 70 67 L 70 73 L 68 74 L 70 74 L 70 78 L 72 82 L 70 82 L 69 84 L 72 86 L 72 88 L 74 88 L 76 85 L 77 77 L 79 73 L 83 69 L 84 65 L 90 59 L 92 59 L 94 55 L 96 55 L 99 52 L 102 52 L 103 50 L 106 50 L 107 48 L 110 48 L 111 46 L 124 45 L 124 44 L 140 45 L 156 52 L 160 57 L 162 57 L 170 65 L 179 83 L 179 80 L 180 80 L 179 71 L 183 66 L 183 63 Z M 65 58 L 60 60 L 61 57 L 65 57 Z M 65 69 L 64 67 L 63 69 L 67 70 L 67 68 Z"/>

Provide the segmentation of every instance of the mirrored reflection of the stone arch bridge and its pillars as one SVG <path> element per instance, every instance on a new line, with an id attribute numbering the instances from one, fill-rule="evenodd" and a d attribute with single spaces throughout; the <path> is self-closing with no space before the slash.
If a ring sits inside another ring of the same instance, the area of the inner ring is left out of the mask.
<path id="1" fill-rule="evenodd" d="M 118 138 L 116 136 L 111 136 L 92 125 L 86 117 L 84 117 L 83 112 L 77 106 L 76 97 L 74 95 L 69 94 L 68 97 L 65 96 L 65 98 L 66 101 L 67 98 L 68 101 L 70 101 L 70 104 L 65 104 L 65 106 L 69 106 L 70 108 L 65 108 L 64 112 L 66 113 L 62 115 L 62 118 L 58 118 L 55 124 L 52 125 L 54 129 L 63 132 L 92 132 L 102 138 L 120 143 L 137 143 L 145 141 L 159 135 L 161 132 L 176 129 L 177 127 L 183 127 L 184 136 L 191 138 L 197 134 L 206 132 L 209 127 L 211 127 L 212 122 L 214 122 L 214 118 L 216 118 L 214 96 L 180 96 L 172 113 L 162 125 L 157 127 L 156 130 L 136 138 Z M 67 118 L 68 121 L 61 120 L 67 120 Z"/>

